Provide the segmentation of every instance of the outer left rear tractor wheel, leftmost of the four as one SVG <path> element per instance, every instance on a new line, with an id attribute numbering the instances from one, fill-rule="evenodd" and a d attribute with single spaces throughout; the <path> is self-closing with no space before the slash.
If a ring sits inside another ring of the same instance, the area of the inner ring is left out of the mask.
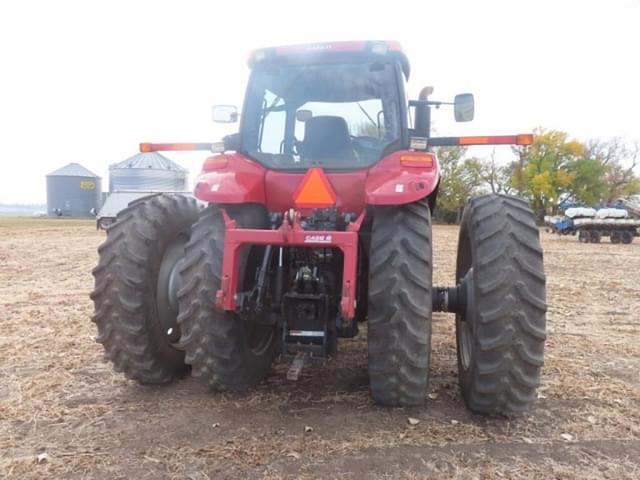
<path id="1" fill-rule="evenodd" d="M 122 210 L 99 247 L 93 270 L 96 340 L 117 371 L 140 383 L 165 383 L 188 371 L 175 291 L 177 265 L 199 208 L 176 194 L 145 197 Z"/>

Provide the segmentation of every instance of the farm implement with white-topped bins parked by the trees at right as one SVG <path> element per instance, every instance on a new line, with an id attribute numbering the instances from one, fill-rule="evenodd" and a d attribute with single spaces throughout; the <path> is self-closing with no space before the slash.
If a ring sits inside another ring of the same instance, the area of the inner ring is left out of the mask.
<path id="1" fill-rule="evenodd" d="M 628 244 L 640 236 L 640 208 L 630 200 L 621 200 L 615 207 L 598 210 L 568 208 L 562 216 L 545 217 L 545 224 L 547 231 L 577 235 L 581 243 L 600 243 L 603 237 L 609 237 L 611 243 Z"/>

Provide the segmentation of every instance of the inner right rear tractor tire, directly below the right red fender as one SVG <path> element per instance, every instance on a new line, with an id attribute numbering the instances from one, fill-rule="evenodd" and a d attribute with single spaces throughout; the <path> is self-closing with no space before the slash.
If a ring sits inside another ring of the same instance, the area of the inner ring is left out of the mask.
<path id="1" fill-rule="evenodd" d="M 431 281 L 427 201 L 377 207 L 368 296 L 369 383 L 376 403 L 424 403 L 431 353 Z"/>

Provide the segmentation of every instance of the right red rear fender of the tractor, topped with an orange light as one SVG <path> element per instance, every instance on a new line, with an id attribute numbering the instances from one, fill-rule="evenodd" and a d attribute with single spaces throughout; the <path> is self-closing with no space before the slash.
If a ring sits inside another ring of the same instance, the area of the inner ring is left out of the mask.
<path id="1" fill-rule="evenodd" d="M 369 205 L 403 205 L 428 197 L 438 186 L 440 165 L 434 153 L 401 150 L 371 167 L 365 183 Z"/>

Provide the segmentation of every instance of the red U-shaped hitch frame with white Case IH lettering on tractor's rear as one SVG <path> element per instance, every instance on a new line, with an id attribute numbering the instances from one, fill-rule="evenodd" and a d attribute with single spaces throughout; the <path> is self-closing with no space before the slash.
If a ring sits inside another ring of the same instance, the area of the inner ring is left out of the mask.
<path id="1" fill-rule="evenodd" d="M 299 212 L 293 214 L 293 219 L 290 219 L 289 213 L 285 212 L 282 225 L 277 230 L 237 228 L 236 221 L 229 217 L 224 209 L 222 216 L 225 237 L 220 290 L 216 293 L 218 309 L 227 311 L 236 309 L 240 249 L 243 245 L 337 247 L 344 256 L 340 310 L 345 319 L 355 316 L 358 232 L 364 221 L 365 211 L 354 222 L 350 222 L 344 232 L 304 230 L 300 225 Z"/>

